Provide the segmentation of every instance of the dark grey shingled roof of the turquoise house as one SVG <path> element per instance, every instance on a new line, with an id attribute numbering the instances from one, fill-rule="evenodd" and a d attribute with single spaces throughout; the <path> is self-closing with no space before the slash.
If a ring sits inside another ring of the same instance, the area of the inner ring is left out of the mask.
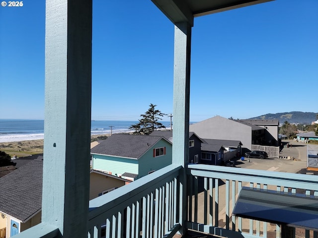
<path id="1" fill-rule="evenodd" d="M 139 159 L 161 139 L 171 144 L 162 136 L 113 134 L 100 141 L 90 153 Z"/>

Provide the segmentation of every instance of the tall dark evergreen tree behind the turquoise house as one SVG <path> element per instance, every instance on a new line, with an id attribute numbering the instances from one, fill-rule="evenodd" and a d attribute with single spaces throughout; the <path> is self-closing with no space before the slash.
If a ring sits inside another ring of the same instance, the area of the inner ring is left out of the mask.
<path id="1" fill-rule="evenodd" d="M 164 128 L 164 125 L 159 120 L 162 120 L 161 117 L 165 116 L 165 114 L 156 110 L 156 107 L 157 105 L 150 104 L 148 111 L 140 115 L 142 119 L 139 119 L 138 123 L 131 125 L 129 129 L 134 130 L 134 134 L 149 135 L 156 129 Z"/>

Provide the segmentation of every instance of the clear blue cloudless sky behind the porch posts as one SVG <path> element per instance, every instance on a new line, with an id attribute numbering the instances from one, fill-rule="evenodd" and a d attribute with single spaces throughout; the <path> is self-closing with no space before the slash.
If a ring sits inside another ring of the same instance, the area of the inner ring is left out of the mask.
<path id="1" fill-rule="evenodd" d="M 151 0 L 93 0 L 92 119 L 172 113 L 173 34 Z M 0 6 L 1 119 L 43 119 L 44 37 L 43 0 Z M 195 18 L 190 120 L 318 112 L 317 65 L 317 0 Z"/>

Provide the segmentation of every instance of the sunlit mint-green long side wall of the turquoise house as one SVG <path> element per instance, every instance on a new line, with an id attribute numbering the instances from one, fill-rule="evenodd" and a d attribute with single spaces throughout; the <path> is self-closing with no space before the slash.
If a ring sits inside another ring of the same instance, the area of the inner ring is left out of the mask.
<path id="1" fill-rule="evenodd" d="M 151 152 L 152 153 L 152 152 Z M 125 172 L 138 175 L 138 160 L 106 155 L 92 155 L 93 170 L 108 171 L 112 175 L 122 175 Z"/>

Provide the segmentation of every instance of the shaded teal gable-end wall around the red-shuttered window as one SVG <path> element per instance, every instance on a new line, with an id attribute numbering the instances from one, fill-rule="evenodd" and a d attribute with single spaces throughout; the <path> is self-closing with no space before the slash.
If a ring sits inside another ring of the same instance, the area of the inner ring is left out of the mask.
<path id="1" fill-rule="evenodd" d="M 165 147 L 165 155 L 154 157 L 153 150 L 155 148 Z M 148 175 L 151 171 L 157 171 L 171 165 L 172 163 L 172 146 L 166 140 L 160 140 L 148 150 L 140 159 L 139 159 L 139 174 L 138 179 Z"/>

